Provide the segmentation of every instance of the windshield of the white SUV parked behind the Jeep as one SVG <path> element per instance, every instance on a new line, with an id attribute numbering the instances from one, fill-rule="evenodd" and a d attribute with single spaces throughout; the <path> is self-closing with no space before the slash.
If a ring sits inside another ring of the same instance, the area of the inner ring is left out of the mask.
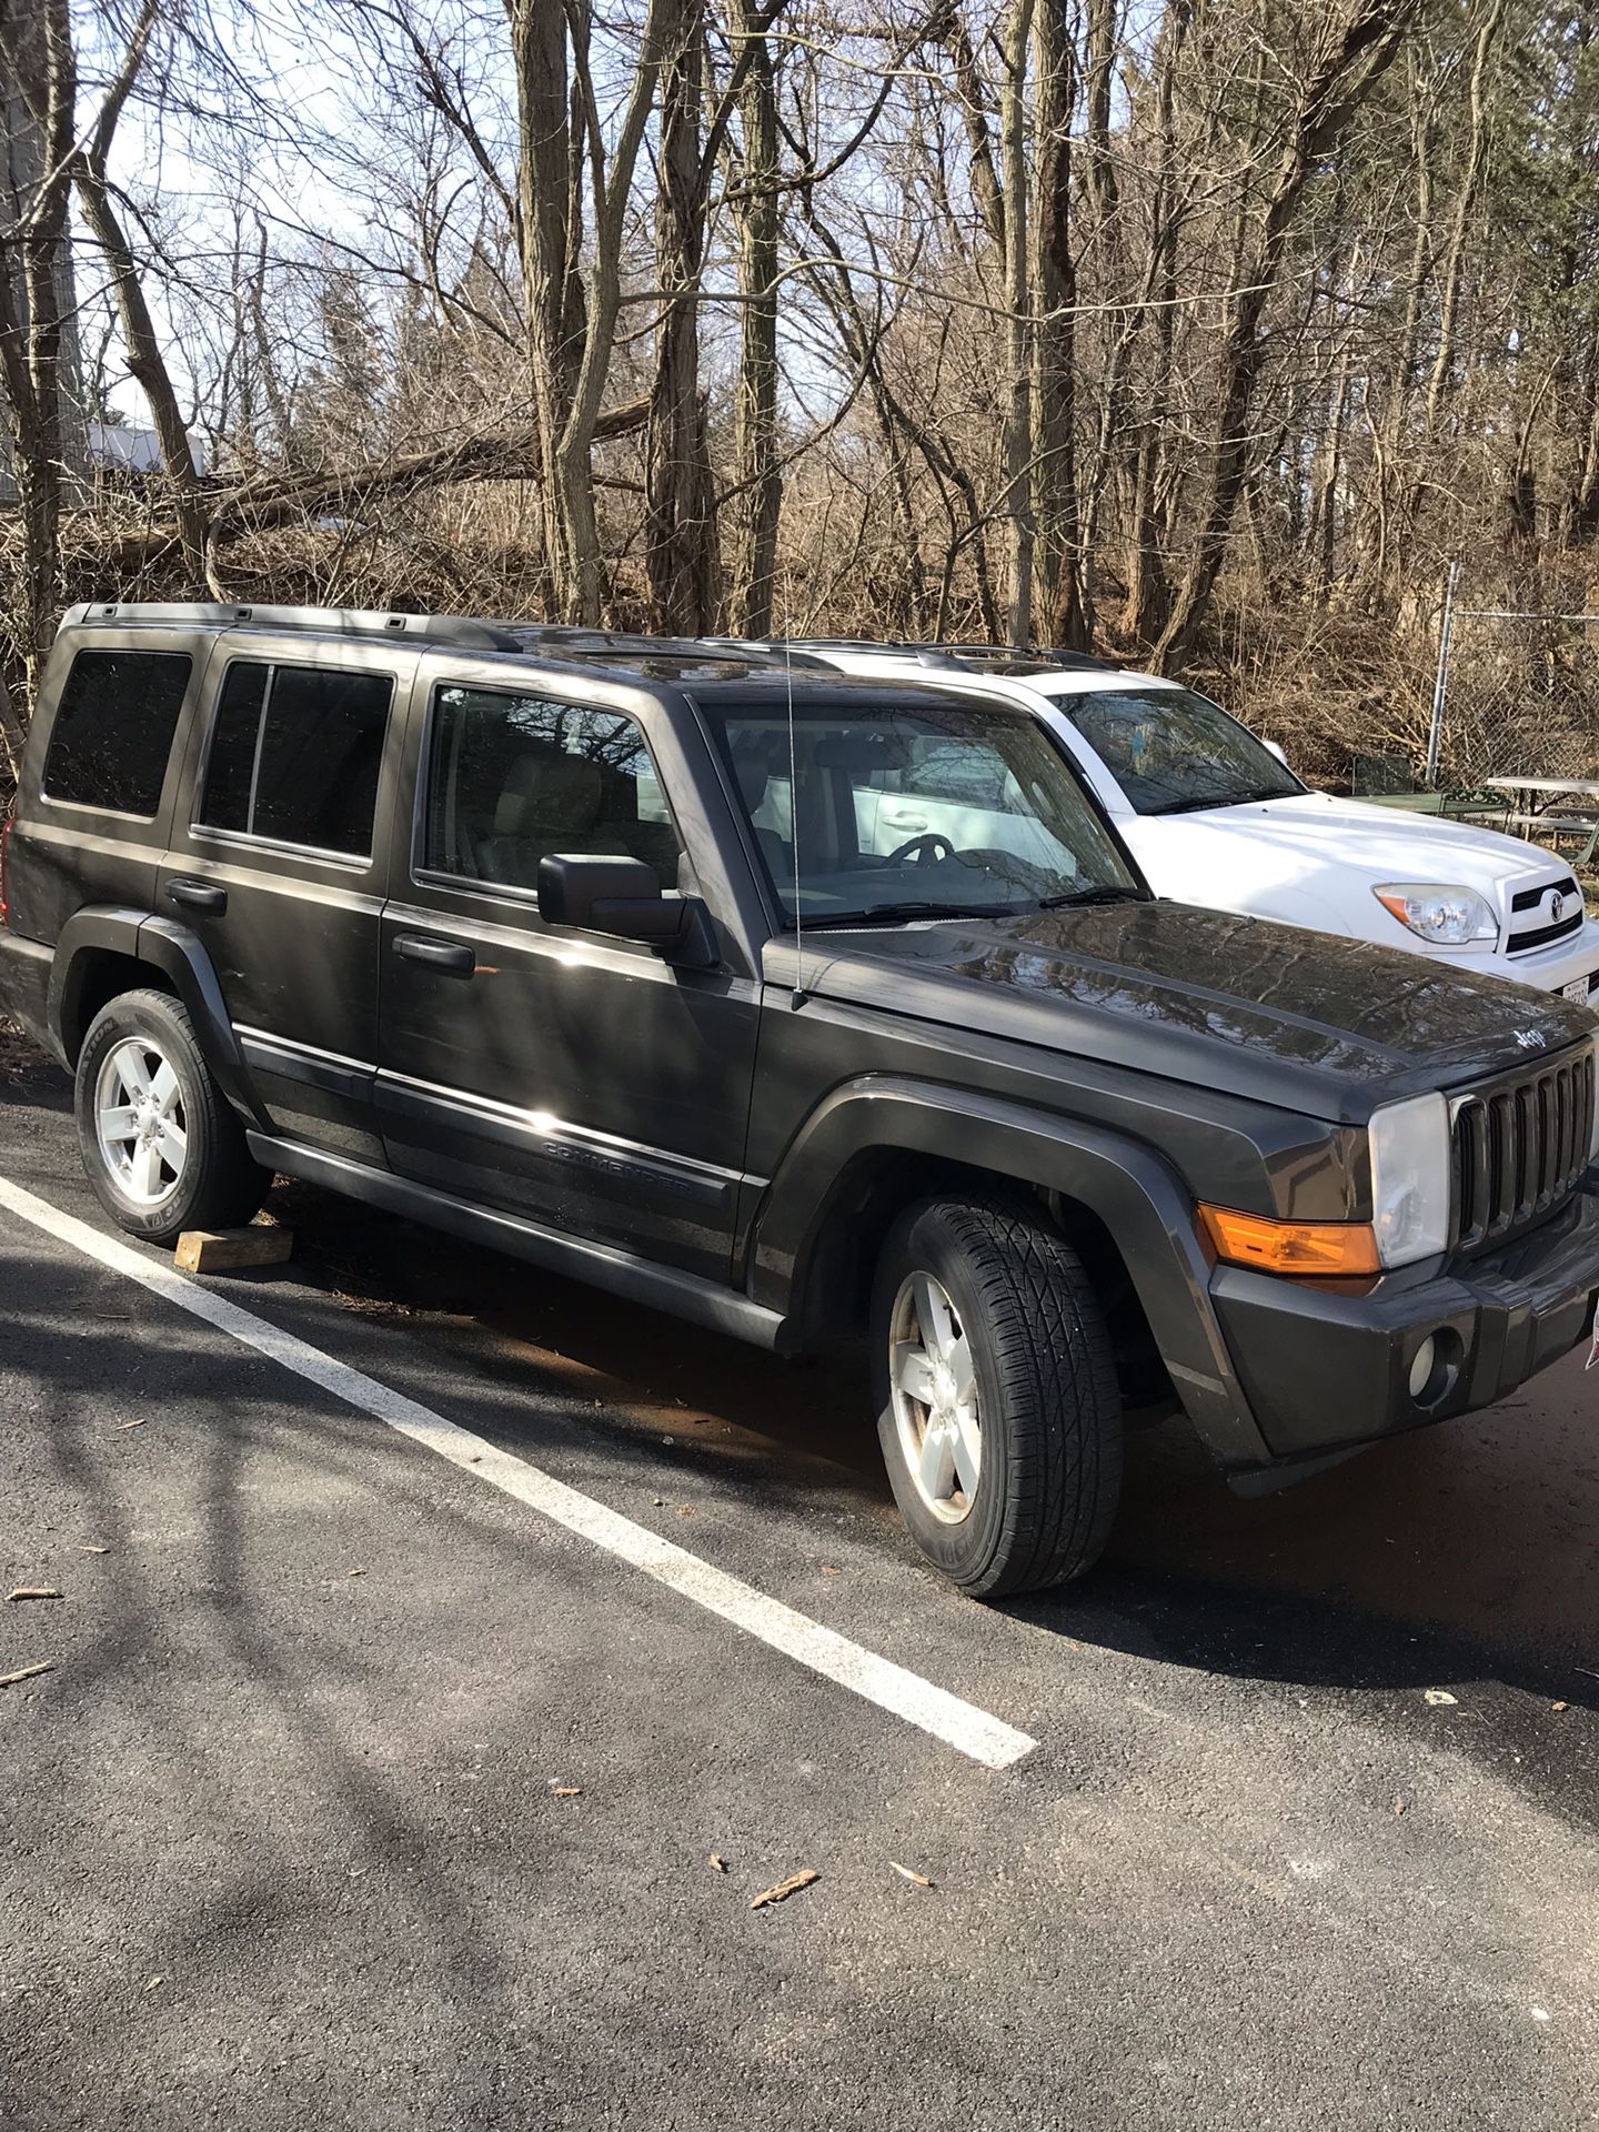
<path id="1" fill-rule="evenodd" d="M 1053 701 L 1136 814 L 1188 814 L 1305 791 L 1262 740 L 1192 689 L 1085 689 Z"/>

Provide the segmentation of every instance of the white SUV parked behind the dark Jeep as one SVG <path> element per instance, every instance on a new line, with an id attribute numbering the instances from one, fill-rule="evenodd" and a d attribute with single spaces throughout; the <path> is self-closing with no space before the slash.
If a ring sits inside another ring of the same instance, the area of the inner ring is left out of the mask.
<path id="1" fill-rule="evenodd" d="M 1599 1004 L 1599 923 L 1569 866 L 1495 829 L 1332 800 L 1220 704 L 1100 661 L 793 644 L 806 665 L 1025 704 L 1070 748 L 1158 895 L 1407 947 Z M 915 774 L 912 774 L 915 776 Z M 949 834 L 957 795 L 893 795 L 885 834 Z"/>

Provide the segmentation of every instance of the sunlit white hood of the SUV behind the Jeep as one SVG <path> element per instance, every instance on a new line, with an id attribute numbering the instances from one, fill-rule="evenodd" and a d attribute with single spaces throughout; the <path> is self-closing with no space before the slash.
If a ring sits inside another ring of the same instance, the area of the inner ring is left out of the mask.
<path id="1" fill-rule="evenodd" d="M 1198 814 L 1136 814 L 1119 829 L 1162 895 L 1192 898 L 1202 883 L 1207 893 L 1217 889 L 1230 904 L 1249 902 L 1258 910 L 1262 900 L 1271 904 L 1273 889 L 1286 900 L 1313 893 L 1332 923 L 1332 891 L 1347 895 L 1358 876 L 1369 887 L 1441 881 L 1475 889 L 1503 921 L 1518 889 L 1544 887 L 1571 872 L 1552 853 L 1497 829 L 1328 793 L 1251 800 Z M 1360 917 L 1379 921 L 1375 906 Z"/>

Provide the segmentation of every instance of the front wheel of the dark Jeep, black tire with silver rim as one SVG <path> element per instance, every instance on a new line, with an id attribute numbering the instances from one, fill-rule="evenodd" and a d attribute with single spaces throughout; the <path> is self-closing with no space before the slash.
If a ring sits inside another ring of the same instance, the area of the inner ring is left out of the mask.
<path id="1" fill-rule="evenodd" d="M 1083 1262 L 1023 1202 L 893 1226 L 872 1296 L 878 1439 L 921 1552 L 979 1599 L 1081 1576 L 1121 1492 L 1121 1399 Z"/>

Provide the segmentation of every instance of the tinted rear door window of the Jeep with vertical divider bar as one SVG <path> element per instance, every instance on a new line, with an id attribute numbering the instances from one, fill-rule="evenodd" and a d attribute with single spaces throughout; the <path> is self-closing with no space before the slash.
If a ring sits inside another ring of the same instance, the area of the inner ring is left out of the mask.
<path id="1" fill-rule="evenodd" d="M 224 676 L 198 821 L 273 844 L 371 857 L 388 674 L 235 659 Z"/>

